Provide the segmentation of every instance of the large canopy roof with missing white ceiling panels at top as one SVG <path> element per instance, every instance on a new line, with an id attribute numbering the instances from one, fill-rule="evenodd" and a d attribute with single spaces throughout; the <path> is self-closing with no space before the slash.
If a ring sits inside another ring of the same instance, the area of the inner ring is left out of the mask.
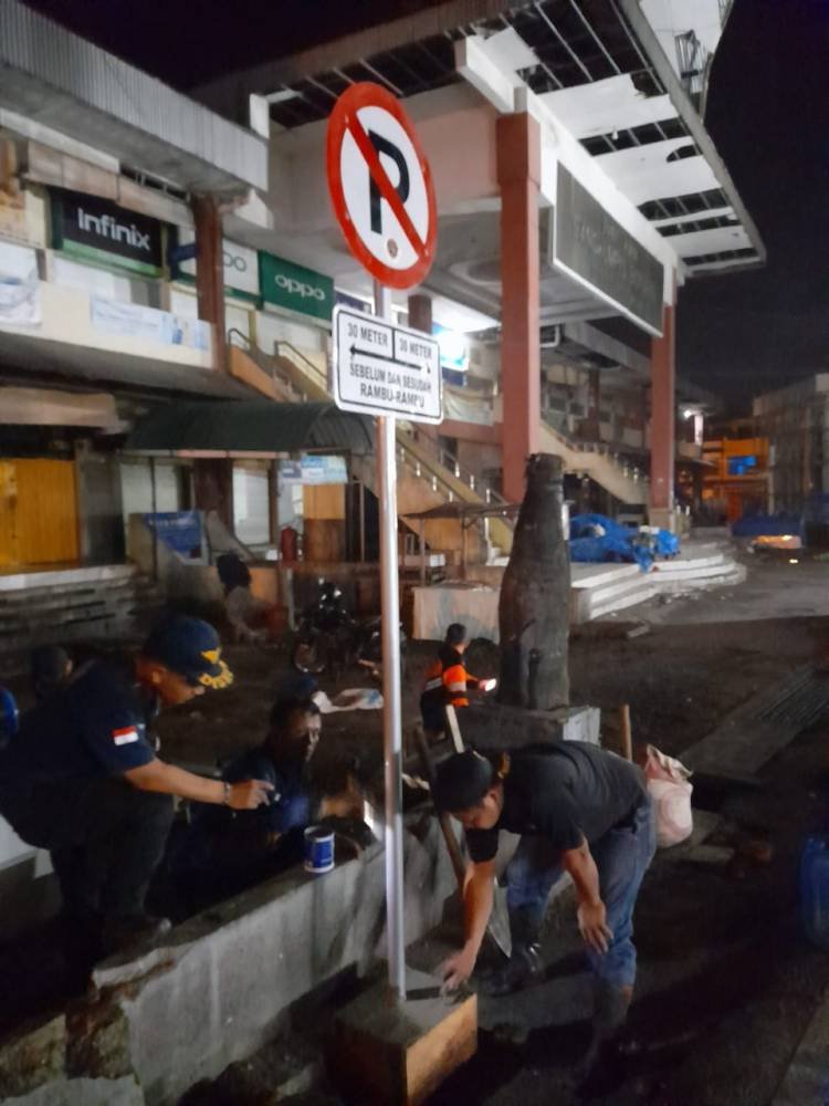
<path id="1" fill-rule="evenodd" d="M 273 122 L 293 131 L 326 118 L 356 81 L 378 82 L 402 98 L 459 83 L 458 46 L 470 39 L 483 41 L 513 84 L 570 129 L 670 241 L 686 275 L 765 260 L 759 233 L 640 0 L 450 0 L 233 74 L 200 94 L 231 109 L 243 92 L 259 93 Z"/>

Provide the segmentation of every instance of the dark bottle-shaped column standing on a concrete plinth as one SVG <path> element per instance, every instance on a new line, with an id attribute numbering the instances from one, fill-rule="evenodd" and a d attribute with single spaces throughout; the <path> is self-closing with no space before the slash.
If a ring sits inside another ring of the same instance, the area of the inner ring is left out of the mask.
<path id="1" fill-rule="evenodd" d="M 562 530 L 562 459 L 534 453 L 499 603 L 500 700 L 528 710 L 569 703 L 570 560 Z"/>

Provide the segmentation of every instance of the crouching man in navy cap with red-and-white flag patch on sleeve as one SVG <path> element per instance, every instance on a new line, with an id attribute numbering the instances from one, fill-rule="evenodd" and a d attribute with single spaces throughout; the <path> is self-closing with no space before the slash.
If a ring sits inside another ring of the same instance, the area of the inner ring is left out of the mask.
<path id="1" fill-rule="evenodd" d="M 231 681 L 213 627 L 171 617 L 127 669 L 96 661 L 34 707 L 0 754 L 0 813 L 24 842 L 51 852 L 64 919 L 87 951 L 98 936 L 108 952 L 169 929 L 144 900 L 172 795 L 234 810 L 267 801 L 267 782 L 208 780 L 156 755 L 149 729 L 160 708 Z"/>

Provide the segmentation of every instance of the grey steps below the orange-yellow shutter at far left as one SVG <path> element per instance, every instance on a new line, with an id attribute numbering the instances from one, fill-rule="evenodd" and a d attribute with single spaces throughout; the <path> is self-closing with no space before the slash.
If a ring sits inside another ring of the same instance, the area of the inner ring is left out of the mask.
<path id="1" fill-rule="evenodd" d="M 25 668 L 35 645 L 143 634 L 162 604 L 132 564 L 0 576 L 0 671 Z"/>

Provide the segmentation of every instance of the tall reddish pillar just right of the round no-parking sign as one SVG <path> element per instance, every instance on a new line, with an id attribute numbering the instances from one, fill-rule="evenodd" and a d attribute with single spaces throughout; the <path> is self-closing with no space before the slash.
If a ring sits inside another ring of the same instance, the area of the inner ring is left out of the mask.
<path id="1" fill-rule="evenodd" d="M 497 121 L 501 186 L 501 390 L 504 495 L 524 498 L 524 468 L 538 452 L 538 185 L 541 131 L 527 113 Z"/>

